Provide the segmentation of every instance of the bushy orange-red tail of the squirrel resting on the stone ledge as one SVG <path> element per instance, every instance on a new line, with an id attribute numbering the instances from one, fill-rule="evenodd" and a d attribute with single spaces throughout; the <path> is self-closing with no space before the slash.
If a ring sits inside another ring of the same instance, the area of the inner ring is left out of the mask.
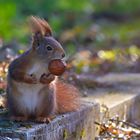
<path id="1" fill-rule="evenodd" d="M 56 82 L 57 112 L 66 113 L 79 108 L 79 91 L 76 87 L 62 81 Z"/>

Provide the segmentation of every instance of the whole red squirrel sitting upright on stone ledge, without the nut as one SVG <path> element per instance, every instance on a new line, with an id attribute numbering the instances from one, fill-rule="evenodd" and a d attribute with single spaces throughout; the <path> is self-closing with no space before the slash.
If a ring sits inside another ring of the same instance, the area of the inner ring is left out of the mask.
<path id="1" fill-rule="evenodd" d="M 14 120 L 46 122 L 55 114 L 78 109 L 79 95 L 74 86 L 57 80 L 48 70 L 49 62 L 63 59 L 65 52 L 47 21 L 32 16 L 30 25 L 31 48 L 9 65 L 7 106 Z"/>

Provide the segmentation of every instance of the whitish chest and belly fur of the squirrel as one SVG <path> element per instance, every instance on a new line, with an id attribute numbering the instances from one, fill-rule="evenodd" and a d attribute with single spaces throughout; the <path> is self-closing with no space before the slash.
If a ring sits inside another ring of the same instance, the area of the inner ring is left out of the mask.
<path id="1" fill-rule="evenodd" d="M 43 73 L 47 73 L 47 68 L 41 63 L 35 63 L 29 70 L 28 74 L 34 74 L 39 82 L 39 79 Z M 37 105 L 42 102 L 39 96 L 40 90 L 44 87 L 43 84 L 26 84 L 17 83 L 18 91 L 22 95 L 19 99 L 19 103 L 24 106 L 24 109 L 28 112 L 34 112 Z"/>

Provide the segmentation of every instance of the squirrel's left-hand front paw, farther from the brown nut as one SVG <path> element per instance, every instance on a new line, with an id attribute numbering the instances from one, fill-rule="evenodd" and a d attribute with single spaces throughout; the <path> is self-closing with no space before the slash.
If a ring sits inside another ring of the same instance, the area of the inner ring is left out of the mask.
<path id="1" fill-rule="evenodd" d="M 28 84 L 36 84 L 37 83 L 36 76 L 34 74 L 31 75 L 26 74 L 24 76 L 24 82 Z"/>

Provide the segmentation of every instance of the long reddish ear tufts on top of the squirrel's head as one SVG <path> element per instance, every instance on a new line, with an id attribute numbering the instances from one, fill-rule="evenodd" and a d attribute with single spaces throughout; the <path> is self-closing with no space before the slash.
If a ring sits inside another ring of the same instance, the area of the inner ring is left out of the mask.
<path id="1" fill-rule="evenodd" d="M 35 34 L 40 34 L 43 36 L 51 36 L 52 35 L 52 30 L 47 21 L 44 19 L 40 19 L 38 17 L 31 16 L 30 17 L 30 27 L 32 33 Z"/>

